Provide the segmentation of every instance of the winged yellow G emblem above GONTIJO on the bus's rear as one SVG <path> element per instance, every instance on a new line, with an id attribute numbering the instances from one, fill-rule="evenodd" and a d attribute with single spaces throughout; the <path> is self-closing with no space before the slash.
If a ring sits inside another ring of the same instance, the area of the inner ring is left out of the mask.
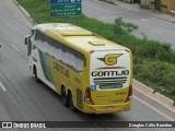
<path id="1" fill-rule="evenodd" d="M 117 63 L 117 58 L 119 58 L 122 53 L 112 53 L 106 55 L 104 58 L 97 58 L 101 61 L 104 61 L 106 66 L 114 66 Z"/>

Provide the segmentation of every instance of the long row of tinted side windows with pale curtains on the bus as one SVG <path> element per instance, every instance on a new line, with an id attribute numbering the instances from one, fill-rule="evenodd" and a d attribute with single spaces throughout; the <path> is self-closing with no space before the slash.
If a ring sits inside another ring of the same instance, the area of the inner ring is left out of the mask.
<path id="1" fill-rule="evenodd" d="M 74 49 L 56 41 L 39 32 L 35 35 L 35 45 L 37 48 L 47 52 L 60 62 L 70 67 L 74 71 L 81 72 L 84 67 L 84 56 Z"/>

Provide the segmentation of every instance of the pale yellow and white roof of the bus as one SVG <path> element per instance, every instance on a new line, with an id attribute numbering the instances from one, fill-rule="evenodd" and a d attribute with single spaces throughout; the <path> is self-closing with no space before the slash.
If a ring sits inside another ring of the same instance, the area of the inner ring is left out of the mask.
<path id="1" fill-rule="evenodd" d="M 70 46 L 74 45 L 88 51 L 126 49 L 124 46 L 109 41 L 90 31 L 69 23 L 38 24 L 35 25 L 35 28 L 56 40 L 62 39 L 71 44 Z"/>

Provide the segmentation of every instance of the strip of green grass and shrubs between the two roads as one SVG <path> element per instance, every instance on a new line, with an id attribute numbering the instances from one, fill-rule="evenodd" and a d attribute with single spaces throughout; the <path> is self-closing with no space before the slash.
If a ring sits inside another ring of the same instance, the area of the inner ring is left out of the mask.
<path id="1" fill-rule="evenodd" d="M 106 39 L 124 45 L 133 53 L 135 79 L 141 81 L 155 92 L 160 92 L 175 102 L 175 51 L 171 45 L 142 39 L 130 33 L 137 29 L 131 23 L 125 23 L 121 17 L 115 24 L 106 24 L 84 15 L 80 17 L 50 17 L 48 0 L 18 0 L 35 23 L 72 23 L 92 31 Z"/>

